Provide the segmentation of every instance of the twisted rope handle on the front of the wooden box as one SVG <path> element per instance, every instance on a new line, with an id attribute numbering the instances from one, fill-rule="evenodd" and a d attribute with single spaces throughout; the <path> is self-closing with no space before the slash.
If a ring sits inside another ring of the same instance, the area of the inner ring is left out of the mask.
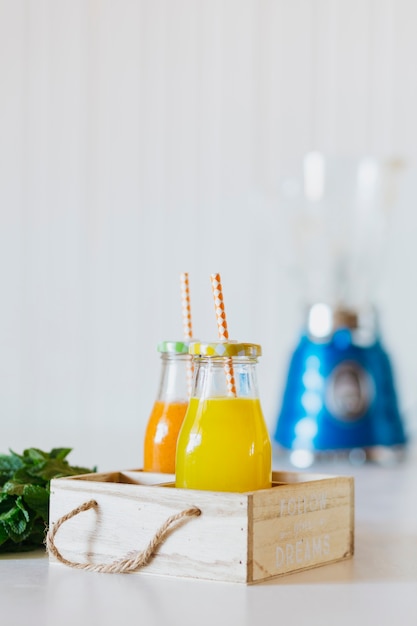
<path id="1" fill-rule="evenodd" d="M 89 500 L 88 502 L 84 502 L 84 504 L 80 504 L 80 506 L 77 506 L 69 513 L 66 513 L 66 515 L 60 517 L 48 530 L 45 539 L 46 549 L 49 554 L 52 554 L 60 563 L 63 563 L 64 565 L 68 565 L 69 567 L 81 569 L 87 572 L 101 572 L 105 574 L 130 574 L 132 572 L 136 572 L 138 569 L 144 567 L 151 561 L 158 547 L 162 545 L 170 532 L 176 530 L 179 526 L 181 526 L 182 522 L 187 518 L 198 517 L 199 515 L 201 515 L 201 510 L 197 507 L 184 509 L 179 513 L 171 515 L 156 531 L 155 535 L 150 540 L 145 550 L 143 550 L 142 552 L 129 553 L 124 558 L 117 559 L 112 563 L 94 564 L 69 561 L 64 556 L 62 556 L 62 554 L 56 547 L 55 536 L 62 524 L 70 520 L 72 517 L 75 517 L 79 513 L 82 513 L 83 511 L 88 511 L 89 509 L 98 509 L 98 503 L 96 502 L 96 500 Z"/>

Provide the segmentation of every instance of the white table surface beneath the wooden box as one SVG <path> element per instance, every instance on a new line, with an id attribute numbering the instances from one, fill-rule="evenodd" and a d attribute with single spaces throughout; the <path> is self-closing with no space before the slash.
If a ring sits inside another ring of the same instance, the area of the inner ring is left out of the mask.
<path id="1" fill-rule="evenodd" d="M 417 626 L 417 454 L 395 467 L 320 471 L 355 477 L 348 561 L 246 586 L 82 572 L 49 564 L 42 551 L 2 555 L 1 624 Z"/>

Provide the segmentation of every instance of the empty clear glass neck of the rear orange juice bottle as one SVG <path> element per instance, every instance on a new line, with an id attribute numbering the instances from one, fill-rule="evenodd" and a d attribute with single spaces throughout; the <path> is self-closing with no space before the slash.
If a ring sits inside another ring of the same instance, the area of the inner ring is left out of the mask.
<path id="1" fill-rule="evenodd" d="M 187 370 L 192 361 L 188 354 L 161 354 L 161 375 L 157 400 L 160 402 L 188 402 Z"/>

